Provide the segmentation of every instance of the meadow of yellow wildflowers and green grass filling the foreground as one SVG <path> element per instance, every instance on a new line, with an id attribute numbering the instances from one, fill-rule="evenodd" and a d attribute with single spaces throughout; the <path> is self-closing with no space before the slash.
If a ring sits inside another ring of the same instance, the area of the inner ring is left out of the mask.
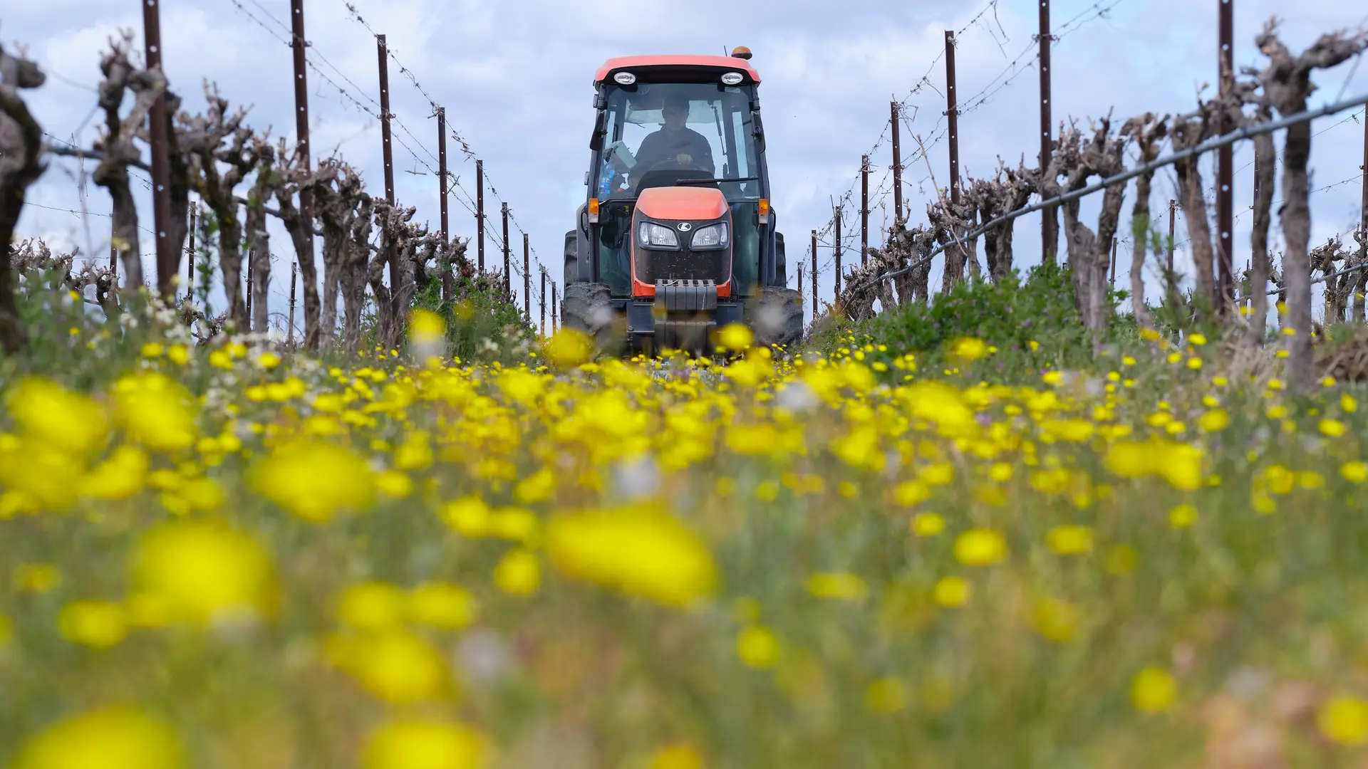
<path id="1" fill-rule="evenodd" d="M 1354 387 L 1196 334 L 1004 384 L 978 339 L 465 364 L 427 316 L 341 360 L 45 312 L 0 361 L 0 765 L 1368 761 Z"/>

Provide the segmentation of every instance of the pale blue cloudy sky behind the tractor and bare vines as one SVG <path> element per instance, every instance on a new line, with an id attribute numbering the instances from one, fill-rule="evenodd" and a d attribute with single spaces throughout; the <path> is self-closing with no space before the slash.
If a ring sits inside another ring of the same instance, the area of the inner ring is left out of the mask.
<path id="1" fill-rule="evenodd" d="M 49 73 L 48 85 L 27 94 L 49 141 L 89 145 L 94 138 L 94 86 L 100 51 L 119 29 L 141 34 L 135 0 L 44 0 L 11 3 L 0 15 L 0 40 L 26 47 Z M 201 83 L 216 82 L 234 104 L 252 107 L 249 123 L 293 141 L 289 0 L 166 0 L 161 4 L 166 70 L 185 107 L 201 111 Z M 419 88 L 391 63 L 395 126 L 395 181 L 402 203 L 419 219 L 438 220 L 436 120 L 425 92 L 447 111 L 447 122 L 484 160 L 495 194 L 490 260 L 497 255 L 498 203 L 513 209 L 513 238 L 531 235 L 536 257 L 560 275 L 564 234 L 583 203 L 587 141 L 592 125 L 591 79 L 607 57 L 632 53 L 720 53 L 736 45 L 755 52 L 763 83 L 765 127 L 774 207 L 788 235 L 789 282 L 795 263 L 808 261 L 807 233 L 825 230 L 832 200 L 855 192 L 847 207 L 845 242 L 859 241 L 858 172 L 871 152 L 871 229 L 892 218 L 886 127 L 889 100 L 906 100 L 904 159 L 917 138 L 926 160 L 907 170 L 906 196 L 914 222 L 936 194 L 929 177 L 945 185 L 944 30 L 958 33 L 960 159 L 963 174 L 988 175 L 1003 157 L 1033 163 L 1038 151 L 1037 71 L 1031 36 L 1034 0 L 306 0 L 311 118 L 315 157 L 337 151 L 363 170 L 372 190 L 383 192 L 378 112 L 376 45 L 372 31 L 389 36 L 398 62 Z M 1114 111 L 1119 119 L 1155 111 L 1187 111 L 1216 75 L 1216 0 L 1053 0 L 1052 19 L 1062 38 L 1053 48 L 1055 119 Z M 1241 0 L 1235 8 L 1235 63 L 1261 66 L 1253 37 L 1270 16 L 1285 19 L 1283 38 L 1294 49 L 1317 34 L 1368 22 L 1364 10 L 1342 0 Z M 364 23 L 358 21 L 364 18 Z M 1067 23 L 1067 25 L 1066 25 Z M 369 26 L 369 29 L 368 29 Z M 137 44 L 141 51 L 141 37 Z M 324 79 L 326 75 L 327 79 Z M 331 81 L 331 82 L 330 82 Z M 1368 67 L 1352 63 L 1320 73 L 1313 104 L 1368 92 Z M 339 89 L 342 92 L 339 92 Z M 1119 122 L 1119 120 L 1118 120 Z M 1324 239 L 1357 223 L 1361 185 L 1363 109 L 1316 123 L 1312 153 L 1313 237 Z M 1323 131 L 1323 133 L 1320 133 Z M 885 141 L 881 141 L 884 138 Z M 475 194 L 475 164 L 449 142 L 460 189 L 451 197 L 451 230 L 475 231 L 465 205 Z M 1253 183 L 1252 148 L 1237 149 L 1237 261 L 1246 259 L 1248 207 Z M 929 167 L 928 167 L 929 161 Z M 90 168 L 86 167 L 86 172 Z M 1204 167 L 1208 183 L 1212 166 Z M 52 157 L 30 190 L 19 235 L 44 237 L 82 253 L 108 253 L 109 200 L 85 186 L 75 160 Z M 1153 205 L 1172 197 L 1171 177 L 1156 182 Z M 141 192 L 142 223 L 150 227 L 150 193 Z M 1328 187 L 1328 189 L 1321 189 Z M 877 194 L 874 192 L 877 190 Z M 1127 192 L 1126 211 L 1130 208 Z M 1280 196 L 1279 196 L 1280 197 Z M 82 208 L 86 216 L 79 212 Z M 1086 211 L 1086 208 L 1085 208 Z M 1040 259 L 1037 216 L 1016 227 L 1016 263 Z M 1182 223 L 1179 223 L 1182 230 Z M 1126 229 L 1123 227 L 1123 231 Z M 818 249 L 822 298 L 832 291 L 830 249 Z M 871 234 L 877 239 L 877 233 Z M 1185 239 L 1182 233 L 1179 241 Z M 275 239 L 272 311 L 289 296 L 289 241 Z M 150 235 L 141 248 L 150 253 Z M 858 248 L 858 246 L 856 246 Z M 1179 249 L 1182 250 L 1182 249 Z M 473 253 L 473 248 L 472 248 Z M 1120 249 L 1122 274 L 1129 244 Z M 858 259 L 858 252 L 856 252 Z M 847 264 L 848 264 L 847 257 Z M 146 260 L 150 274 L 150 257 Z M 1182 256 L 1179 256 L 1179 265 Z M 535 267 L 534 267 L 535 270 Z M 810 276 L 804 281 L 810 281 Z M 933 274 L 933 281 L 938 278 Z M 933 283 L 934 285 L 934 283 Z M 808 283 L 810 286 L 810 283 Z M 536 289 L 534 287 L 534 291 Z M 804 290 L 807 294 L 810 289 Z"/>

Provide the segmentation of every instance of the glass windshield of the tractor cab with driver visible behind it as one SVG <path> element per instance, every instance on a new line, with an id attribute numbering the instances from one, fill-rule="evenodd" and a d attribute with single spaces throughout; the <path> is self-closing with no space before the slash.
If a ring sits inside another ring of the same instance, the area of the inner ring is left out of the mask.
<path id="1" fill-rule="evenodd" d="M 595 197 L 633 200 L 643 182 L 721 179 L 717 187 L 726 200 L 759 200 L 747 90 L 715 83 L 613 86 L 607 135 L 596 156 Z"/>

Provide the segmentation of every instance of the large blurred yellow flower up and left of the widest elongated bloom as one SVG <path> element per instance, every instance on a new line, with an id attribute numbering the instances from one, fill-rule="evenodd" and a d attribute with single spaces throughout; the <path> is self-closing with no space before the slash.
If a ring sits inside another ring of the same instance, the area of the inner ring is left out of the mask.
<path id="1" fill-rule="evenodd" d="M 375 504 L 375 473 L 361 456 L 334 443 L 298 441 L 253 465 L 252 486 L 301 519 L 323 523 Z"/>

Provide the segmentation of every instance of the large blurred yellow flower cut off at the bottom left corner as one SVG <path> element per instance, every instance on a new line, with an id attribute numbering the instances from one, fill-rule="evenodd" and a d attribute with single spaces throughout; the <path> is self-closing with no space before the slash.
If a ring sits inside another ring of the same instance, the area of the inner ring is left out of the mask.
<path id="1" fill-rule="evenodd" d="M 185 757 L 160 718 L 138 710 L 92 710 L 30 738 L 14 769 L 179 769 Z"/>

